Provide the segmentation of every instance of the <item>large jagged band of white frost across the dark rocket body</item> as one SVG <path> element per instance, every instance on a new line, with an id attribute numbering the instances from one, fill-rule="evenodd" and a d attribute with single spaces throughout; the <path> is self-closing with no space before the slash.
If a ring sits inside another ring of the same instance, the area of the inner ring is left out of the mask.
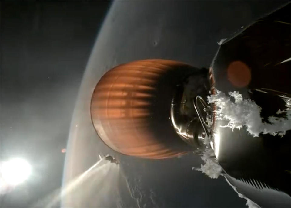
<path id="1" fill-rule="evenodd" d="M 217 106 L 216 119 L 227 120 L 226 126 L 232 130 L 240 129 L 246 126 L 247 131 L 253 136 L 258 137 L 260 133 L 271 135 L 285 135 L 287 130 L 291 129 L 291 110 L 290 100 L 286 102 L 286 109 L 278 110 L 276 116 L 268 118 L 269 123 L 262 122 L 260 116 L 261 107 L 251 99 L 243 99 L 243 96 L 237 91 L 229 92 L 230 97 L 234 98 L 234 102 L 225 93 L 216 90 L 215 95 L 208 96 L 208 103 L 214 103 Z"/>

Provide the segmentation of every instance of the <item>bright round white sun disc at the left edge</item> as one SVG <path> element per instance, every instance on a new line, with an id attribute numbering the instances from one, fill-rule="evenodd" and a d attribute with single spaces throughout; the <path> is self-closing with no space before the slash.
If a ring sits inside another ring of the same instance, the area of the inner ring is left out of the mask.
<path id="1" fill-rule="evenodd" d="M 15 158 L 3 162 L 1 175 L 7 184 L 17 185 L 25 181 L 31 173 L 31 167 L 27 161 Z"/>

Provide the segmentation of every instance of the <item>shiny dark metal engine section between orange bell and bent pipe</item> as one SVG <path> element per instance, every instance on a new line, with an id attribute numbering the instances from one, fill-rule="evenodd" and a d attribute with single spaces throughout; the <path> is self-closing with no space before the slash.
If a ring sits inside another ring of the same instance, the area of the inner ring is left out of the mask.
<path id="1" fill-rule="evenodd" d="M 205 134 L 193 101 L 198 95 L 206 98 L 209 89 L 207 70 L 196 70 L 177 85 L 171 103 L 171 121 L 176 133 L 197 153 L 204 149 Z"/>

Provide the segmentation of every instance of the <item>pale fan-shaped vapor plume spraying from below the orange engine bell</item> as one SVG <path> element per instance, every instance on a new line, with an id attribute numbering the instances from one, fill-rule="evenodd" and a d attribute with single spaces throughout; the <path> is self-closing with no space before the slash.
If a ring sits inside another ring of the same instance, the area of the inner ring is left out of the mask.
<path id="1" fill-rule="evenodd" d="M 62 188 L 38 200 L 32 207 L 55 207 L 59 202 L 62 207 L 121 207 L 123 204 L 119 190 L 115 188 L 118 186 L 119 172 L 119 164 L 102 158 Z M 92 197 L 94 200 L 88 200 Z"/>

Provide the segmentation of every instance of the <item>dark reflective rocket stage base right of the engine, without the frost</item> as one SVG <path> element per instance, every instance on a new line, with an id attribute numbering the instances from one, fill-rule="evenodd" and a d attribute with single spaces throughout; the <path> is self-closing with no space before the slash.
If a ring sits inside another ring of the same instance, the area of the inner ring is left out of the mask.
<path id="1" fill-rule="evenodd" d="M 264 122 L 279 109 L 286 109 L 291 66 L 290 61 L 284 60 L 291 57 L 290 29 L 289 4 L 223 43 L 210 67 L 212 94 L 215 94 L 214 88 L 224 93 L 238 91 L 243 99 L 251 99 L 262 108 Z M 260 90 L 262 88 L 267 90 Z M 226 173 L 242 181 L 261 181 L 270 189 L 289 195 L 289 200 L 282 201 L 280 206 L 290 206 L 290 130 L 282 138 L 270 134 L 254 138 L 246 128 L 221 128 L 227 123 L 214 119 L 212 124 L 220 138 L 218 161 Z M 251 192 L 241 191 L 252 199 Z M 274 203 L 259 200 L 259 205 L 275 207 L 275 201 L 276 197 Z"/>

